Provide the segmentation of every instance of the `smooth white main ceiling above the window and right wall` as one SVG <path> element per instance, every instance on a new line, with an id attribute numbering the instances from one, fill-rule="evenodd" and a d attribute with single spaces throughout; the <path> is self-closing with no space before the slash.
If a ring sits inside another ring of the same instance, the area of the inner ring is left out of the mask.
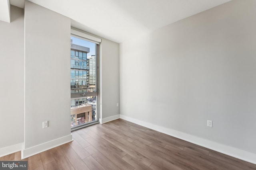
<path id="1" fill-rule="evenodd" d="M 11 4 L 20 1 L 24 0 L 11 0 Z M 121 43 L 230 0 L 29 1 L 71 18 L 73 27 Z"/>

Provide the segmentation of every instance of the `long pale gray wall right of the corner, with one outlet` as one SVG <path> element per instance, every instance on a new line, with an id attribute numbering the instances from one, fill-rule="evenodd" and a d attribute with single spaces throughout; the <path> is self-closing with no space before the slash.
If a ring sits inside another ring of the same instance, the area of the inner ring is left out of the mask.
<path id="1" fill-rule="evenodd" d="M 121 43 L 120 114 L 256 153 L 255 6 L 233 0 Z"/>

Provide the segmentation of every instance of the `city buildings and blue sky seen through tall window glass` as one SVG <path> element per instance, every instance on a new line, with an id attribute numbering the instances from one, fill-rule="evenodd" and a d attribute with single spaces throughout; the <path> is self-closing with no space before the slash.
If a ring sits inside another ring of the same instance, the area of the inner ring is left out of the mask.
<path id="1" fill-rule="evenodd" d="M 96 44 L 70 37 L 71 127 L 97 120 Z M 78 97 L 78 95 L 80 96 Z"/>

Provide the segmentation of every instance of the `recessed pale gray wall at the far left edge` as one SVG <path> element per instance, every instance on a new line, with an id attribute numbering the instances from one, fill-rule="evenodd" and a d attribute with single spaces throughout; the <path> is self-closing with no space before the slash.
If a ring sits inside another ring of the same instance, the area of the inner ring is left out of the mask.
<path id="1" fill-rule="evenodd" d="M 24 141 L 23 9 L 11 6 L 11 23 L 0 21 L 0 30 L 0 148 L 3 148 Z"/>

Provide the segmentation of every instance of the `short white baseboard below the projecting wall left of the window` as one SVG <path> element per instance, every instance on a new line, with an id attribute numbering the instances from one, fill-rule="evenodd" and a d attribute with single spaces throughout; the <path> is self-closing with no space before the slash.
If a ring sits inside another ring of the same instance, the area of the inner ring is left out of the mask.
<path id="1" fill-rule="evenodd" d="M 35 154 L 38 154 L 40 152 L 44 152 L 45 150 L 49 150 L 52 149 L 54 147 L 58 147 L 60 145 L 63 145 L 65 143 L 71 142 L 73 141 L 72 139 L 72 134 L 58 138 L 58 139 L 54 139 L 52 141 L 46 142 L 46 143 L 42 143 L 40 145 L 36 145 L 34 147 L 31 148 L 27 148 L 27 149 L 22 149 L 21 150 L 21 158 L 28 158 L 30 156 L 33 156 Z M 23 146 L 24 147 L 24 146 Z"/>

